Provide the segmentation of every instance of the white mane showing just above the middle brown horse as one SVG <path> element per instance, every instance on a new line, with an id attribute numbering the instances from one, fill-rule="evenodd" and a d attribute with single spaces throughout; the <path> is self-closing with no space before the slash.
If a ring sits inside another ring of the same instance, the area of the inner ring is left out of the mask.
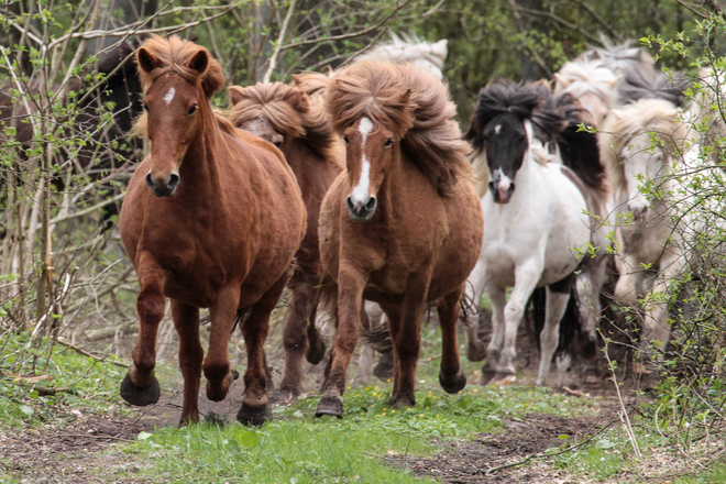
<path id="1" fill-rule="evenodd" d="M 367 53 L 355 57 L 358 61 L 374 59 L 384 63 L 404 64 L 408 63 L 416 68 L 427 70 L 439 79 L 443 78 L 443 62 L 447 58 L 446 38 L 439 42 L 422 42 L 416 35 L 404 35 L 404 38 L 391 33 L 391 42 L 381 44 Z"/>

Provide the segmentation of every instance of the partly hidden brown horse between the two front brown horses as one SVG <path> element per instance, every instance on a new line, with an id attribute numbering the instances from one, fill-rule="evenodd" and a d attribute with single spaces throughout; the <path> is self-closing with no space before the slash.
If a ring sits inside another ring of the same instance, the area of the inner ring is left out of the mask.
<path id="1" fill-rule="evenodd" d="M 289 283 L 293 300 L 285 322 L 285 371 L 276 395 L 278 402 L 289 403 L 301 391 L 302 356 L 312 364 L 324 356 L 326 346 L 315 327 L 316 286 L 321 275 L 318 216 L 328 188 L 343 170 L 344 154 L 320 97 L 308 98 L 298 87 L 275 82 L 232 86 L 230 98 L 232 124 L 282 150 L 308 212 L 307 231 L 295 254 L 297 267 Z"/>

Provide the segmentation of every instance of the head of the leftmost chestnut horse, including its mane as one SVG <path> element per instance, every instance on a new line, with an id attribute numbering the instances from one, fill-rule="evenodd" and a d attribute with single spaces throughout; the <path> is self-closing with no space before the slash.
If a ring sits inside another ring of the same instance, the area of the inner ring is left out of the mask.
<path id="1" fill-rule="evenodd" d="M 169 44 L 179 44 L 176 50 Z M 168 52 L 176 53 L 174 57 Z M 205 123 L 216 123 L 208 98 L 224 82 L 207 50 L 178 37 L 146 41 L 136 53 L 152 143 L 146 184 L 157 197 L 170 197 L 190 147 L 197 148 Z M 206 121 L 205 121 L 206 120 Z"/>

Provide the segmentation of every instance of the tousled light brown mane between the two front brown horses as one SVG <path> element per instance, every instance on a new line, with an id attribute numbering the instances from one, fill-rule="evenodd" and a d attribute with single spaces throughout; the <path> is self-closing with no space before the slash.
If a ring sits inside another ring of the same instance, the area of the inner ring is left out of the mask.
<path id="1" fill-rule="evenodd" d="M 229 112 L 229 120 L 234 125 L 263 116 L 277 132 L 300 139 L 319 155 L 329 157 L 328 151 L 334 139 L 320 97 L 309 98 L 298 87 L 283 82 L 233 86 L 230 90 L 240 98 Z"/>

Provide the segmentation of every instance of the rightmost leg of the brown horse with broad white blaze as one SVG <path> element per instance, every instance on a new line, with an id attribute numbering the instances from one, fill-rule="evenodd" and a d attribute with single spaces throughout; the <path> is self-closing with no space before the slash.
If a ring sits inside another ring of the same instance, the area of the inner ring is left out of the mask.
<path id="1" fill-rule="evenodd" d="M 459 298 L 462 289 L 448 294 L 437 306 L 441 324 L 441 371 L 439 383 L 447 393 L 455 394 L 466 386 L 466 375 L 459 363 L 457 342 L 457 320 L 459 319 Z"/>

